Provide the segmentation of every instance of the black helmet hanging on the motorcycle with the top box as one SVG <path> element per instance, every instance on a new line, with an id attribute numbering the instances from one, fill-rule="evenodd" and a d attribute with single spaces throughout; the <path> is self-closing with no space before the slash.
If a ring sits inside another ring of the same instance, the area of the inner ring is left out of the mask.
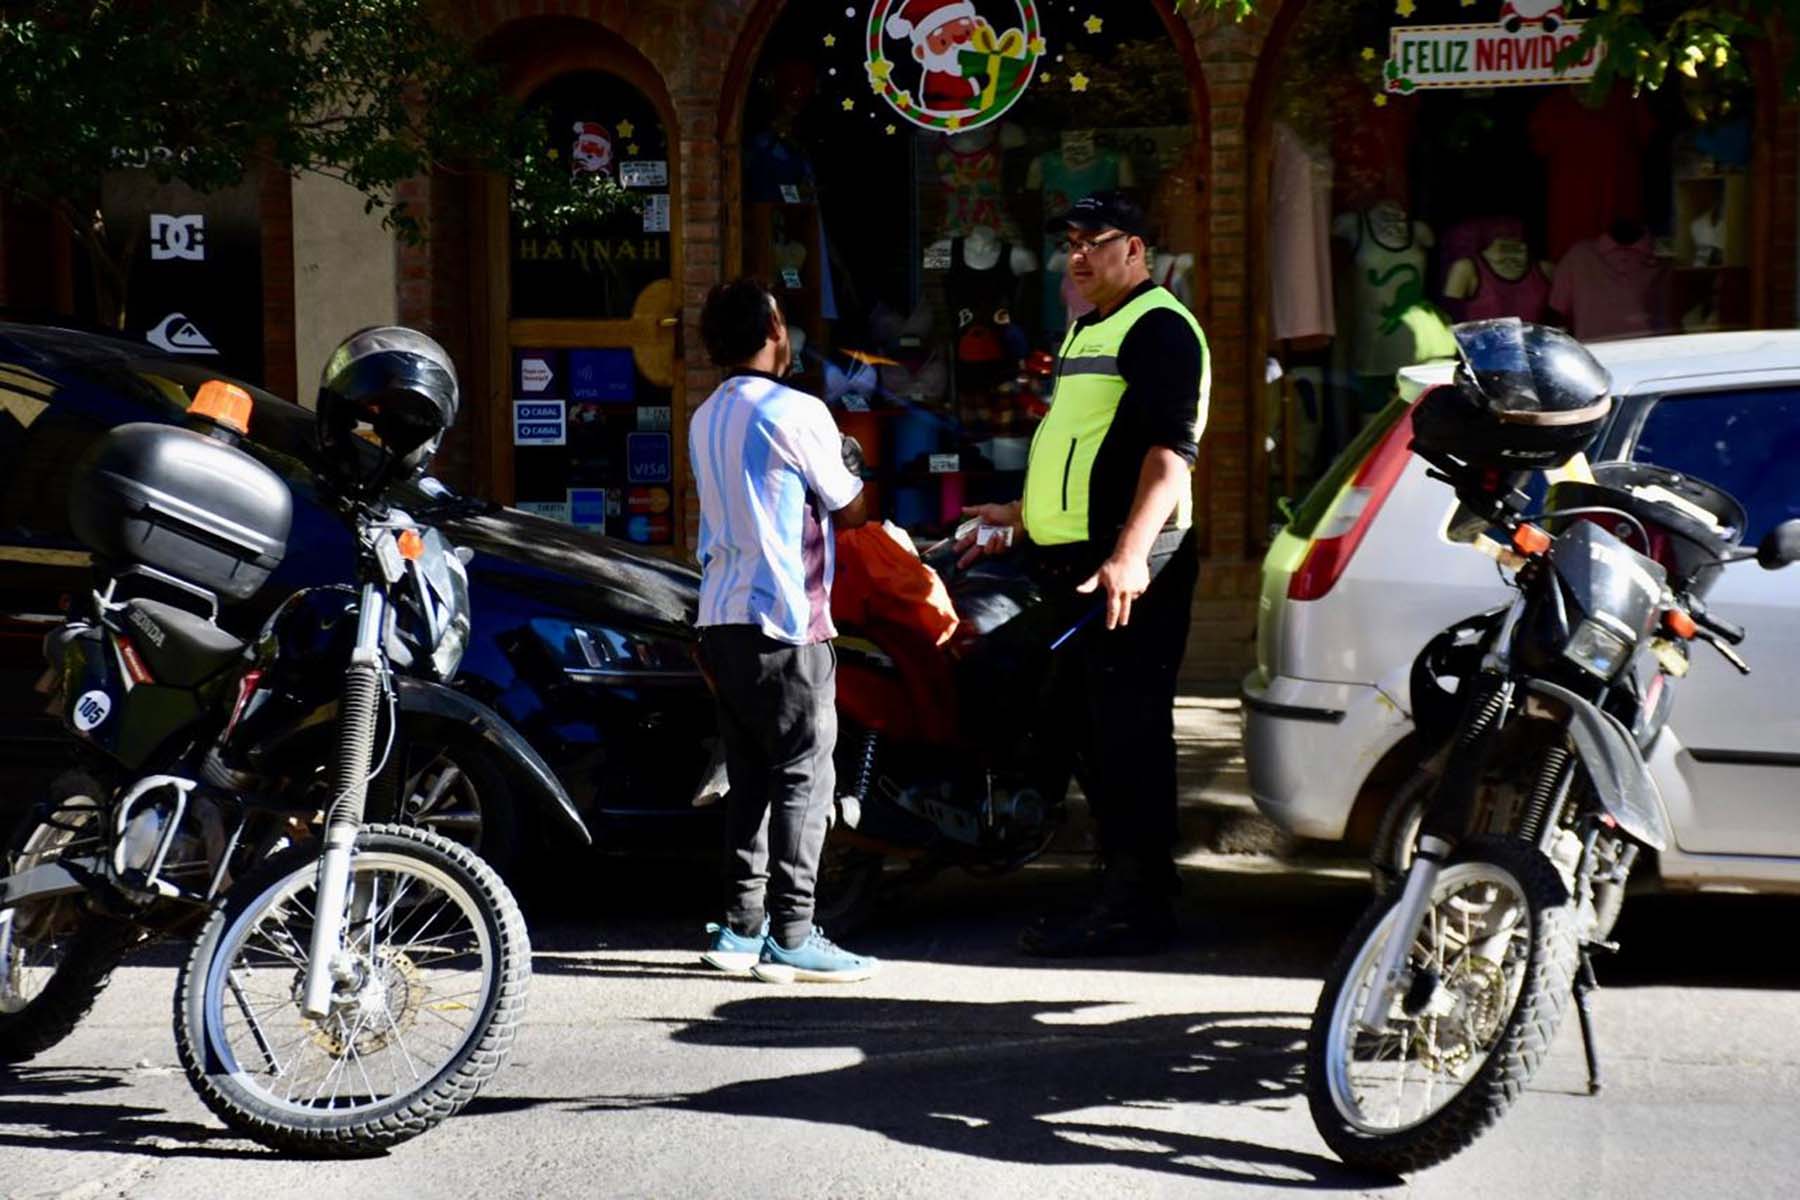
<path id="1" fill-rule="evenodd" d="M 445 347 L 401 326 L 358 329 L 331 351 L 319 378 L 322 466 L 356 491 L 416 479 L 455 412 L 455 365 Z"/>

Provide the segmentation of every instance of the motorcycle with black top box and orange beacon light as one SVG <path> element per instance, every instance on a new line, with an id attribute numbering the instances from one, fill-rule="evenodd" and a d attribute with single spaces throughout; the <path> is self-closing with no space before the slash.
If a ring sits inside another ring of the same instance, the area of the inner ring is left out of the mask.
<path id="1" fill-rule="evenodd" d="M 468 637 L 463 558 L 383 495 L 454 401 L 391 407 L 322 473 L 355 531 L 356 587 L 295 594 L 252 644 L 218 626 L 220 604 L 281 561 L 292 502 L 236 444 L 248 398 L 207 385 L 189 428 L 119 426 L 83 462 L 70 516 L 95 587 L 45 649 L 85 770 L 27 815 L 0 880 L 0 1060 L 67 1036 L 135 946 L 187 936 L 182 1067 L 221 1121 L 275 1150 L 398 1144 L 506 1060 L 531 964 L 518 905 L 470 849 L 369 824 L 371 783 L 394 777 L 401 711 L 436 709 L 569 801 L 448 687 Z"/>

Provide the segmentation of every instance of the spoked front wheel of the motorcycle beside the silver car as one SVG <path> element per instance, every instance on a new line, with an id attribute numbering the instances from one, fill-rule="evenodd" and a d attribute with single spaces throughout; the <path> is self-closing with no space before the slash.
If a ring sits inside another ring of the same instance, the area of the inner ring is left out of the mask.
<path id="1" fill-rule="evenodd" d="M 1307 1101 L 1332 1151 L 1409 1173 L 1471 1146 L 1537 1072 L 1568 1009 L 1580 948 L 1557 869 L 1530 846 L 1472 837 L 1415 939 L 1413 984 L 1379 1033 L 1357 1027 L 1400 889 L 1357 921 L 1307 1038 Z"/>

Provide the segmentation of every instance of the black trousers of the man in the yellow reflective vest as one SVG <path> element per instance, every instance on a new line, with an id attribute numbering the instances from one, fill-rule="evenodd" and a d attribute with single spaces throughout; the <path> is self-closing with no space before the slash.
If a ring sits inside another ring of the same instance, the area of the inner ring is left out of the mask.
<path id="1" fill-rule="evenodd" d="M 1130 624 L 1107 630 L 1102 612 L 1053 664 L 1051 712 L 1098 826 L 1107 901 L 1166 905 L 1175 892 L 1175 680 L 1199 563 L 1188 531 L 1174 551 L 1152 556 L 1156 578 L 1132 603 Z M 1073 588 L 1080 579 L 1046 583 Z M 1066 612 L 1105 604 L 1100 592 L 1069 596 L 1058 597 Z"/>

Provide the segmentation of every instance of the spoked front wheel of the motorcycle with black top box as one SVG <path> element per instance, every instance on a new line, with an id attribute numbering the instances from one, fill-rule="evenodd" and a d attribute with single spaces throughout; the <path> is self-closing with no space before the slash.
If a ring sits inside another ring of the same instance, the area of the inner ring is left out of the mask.
<path id="1" fill-rule="evenodd" d="M 319 853 L 299 846 L 212 912 L 175 993 L 175 1045 L 225 1124 L 308 1157 L 378 1153 L 461 1110 L 506 1061 L 531 943 L 481 858 L 409 826 L 367 826 L 351 860 L 367 918 L 351 979 L 313 1020 L 299 999 Z"/>

